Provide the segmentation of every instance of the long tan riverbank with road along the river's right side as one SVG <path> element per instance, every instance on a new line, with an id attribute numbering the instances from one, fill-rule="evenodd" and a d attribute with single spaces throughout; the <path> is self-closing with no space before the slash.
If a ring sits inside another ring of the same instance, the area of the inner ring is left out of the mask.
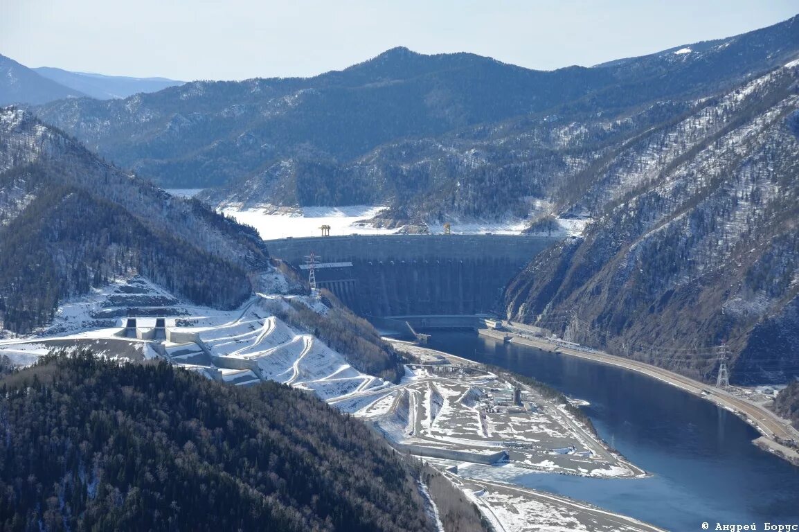
<path id="1" fill-rule="evenodd" d="M 518 326 L 514 324 L 514 327 Z M 491 335 L 487 335 L 484 332 L 481 332 L 481 335 L 491 336 L 498 341 L 518 343 L 519 345 L 535 347 L 542 351 L 575 356 L 598 363 L 608 364 L 610 366 L 622 367 L 630 371 L 638 371 L 638 373 L 648 375 L 654 379 L 661 380 L 662 382 L 687 391 L 690 394 L 707 399 L 711 403 L 718 405 L 718 407 L 733 412 L 745 422 L 755 427 L 757 431 L 761 433 L 761 438 L 753 440 L 753 443 L 757 445 L 757 447 L 761 447 L 761 449 L 772 452 L 774 455 L 780 456 L 789 463 L 799 466 L 799 452 L 777 441 L 778 439 L 793 439 L 799 441 L 799 431 L 793 428 L 787 420 L 779 418 L 772 411 L 757 404 L 749 403 L 745 401 L 745 399 L 730 394 L 728 391 L 710 387 L 706 383 L 701 383 L 698 380 L 690 379 L 689 377 L 662 369 L 661 367 L 610 355 L 603 351 L 588 351 L 578 346 L 572 347 L 565 343 L 555 343 L 551 339 L 536 337 L 534 335 L 519 335 L 518 333 L 508 331 L 489 332 Z M 509 339 L 506 340 L 506 336 L 508 336 Z"/>

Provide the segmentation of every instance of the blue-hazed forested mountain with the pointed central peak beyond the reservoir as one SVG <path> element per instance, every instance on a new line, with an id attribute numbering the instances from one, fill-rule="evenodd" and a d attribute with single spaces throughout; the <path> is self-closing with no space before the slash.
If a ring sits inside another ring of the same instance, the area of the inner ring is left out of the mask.
<path id="1" fill-rule="evenodd" d="M 309 79 L 195 81 L 121 101 L 59 101 L 35 113 L 160 185 L 197 188 L 287 157 L 349 160 L 398 137 L 541 110 L 607 82 L 590 69 L 541 73 L 398 49 Z"/>

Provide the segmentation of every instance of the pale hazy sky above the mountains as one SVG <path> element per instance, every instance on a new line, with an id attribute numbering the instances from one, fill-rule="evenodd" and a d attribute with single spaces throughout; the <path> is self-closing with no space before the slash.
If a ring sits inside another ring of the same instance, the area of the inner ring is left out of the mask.
<path id="1" fill-rule="evenodd" d="M 797 13 L 797 0 L 0 0 L 0 54 L 27 66 L 182 80 L 309 76 L 394 46 L 555 69 Z"/>

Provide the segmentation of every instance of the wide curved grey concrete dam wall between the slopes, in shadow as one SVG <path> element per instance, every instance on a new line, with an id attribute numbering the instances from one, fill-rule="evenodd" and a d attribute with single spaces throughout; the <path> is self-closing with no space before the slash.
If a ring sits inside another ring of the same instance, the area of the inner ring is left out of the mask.
<path id="1" fill-rule="evenodd" d="M 479 314 L 559 239 L 511 235 L 322 236 L 267 240 L 295 267 L 317 256 L 316 285 L 360 316 Z M 308 270 L 304 269 L 305 276 Z"/>

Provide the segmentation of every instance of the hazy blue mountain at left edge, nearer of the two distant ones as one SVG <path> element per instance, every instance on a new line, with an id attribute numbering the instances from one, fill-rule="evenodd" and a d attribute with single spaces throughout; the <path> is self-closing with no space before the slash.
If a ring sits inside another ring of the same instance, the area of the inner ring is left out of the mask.
<path id="1" fill-rule="evenodd" d="M 42 104 L 62 98 L 85 96 L 80 90 L 62 85 L 0 55 L 0 105 Z"/>

